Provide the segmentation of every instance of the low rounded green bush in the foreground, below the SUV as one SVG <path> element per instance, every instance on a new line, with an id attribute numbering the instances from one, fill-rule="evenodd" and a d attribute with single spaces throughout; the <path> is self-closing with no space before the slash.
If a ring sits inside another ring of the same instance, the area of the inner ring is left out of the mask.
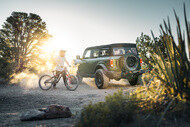
<path id="1" fill-rule="evenodd" d="M 132 102 L 132 103 L 131 103 Z M 85 106 L 77 127 L 124 126 L 135 118 L 138 105 L 134 96 L 127 96 L 120 90 L 108 95 L 105 102 Z"/>

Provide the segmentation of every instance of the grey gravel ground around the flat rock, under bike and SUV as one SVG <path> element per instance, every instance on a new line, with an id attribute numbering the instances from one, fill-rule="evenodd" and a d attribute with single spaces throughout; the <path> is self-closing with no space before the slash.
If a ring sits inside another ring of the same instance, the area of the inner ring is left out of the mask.
<path id="1" fill-rule="evenodd" d="M 127 84 L 127 85 L 126 85 Z M 80 116 L 84 105 L 104 101 L 108 94 L 113 94 L 118 89 L 129 91 L 135 89 L 128 82 L 112 81 L 107 89 L 97 89 L 93 79 L 85 79 L 76 91 L 68 91 L 62 82 L 57 84 L 57 89 L 42 91 L 40 88 L 25 89 L 18 85 L 0 85 L 0 127 L 1 126 L 72 126 Z M 69 107 L 73 116 L 39 121 L 25 121 L 19 119 L 22 112 L 30 109 L 46 108 L 50 104 L 59 104 Z"/>

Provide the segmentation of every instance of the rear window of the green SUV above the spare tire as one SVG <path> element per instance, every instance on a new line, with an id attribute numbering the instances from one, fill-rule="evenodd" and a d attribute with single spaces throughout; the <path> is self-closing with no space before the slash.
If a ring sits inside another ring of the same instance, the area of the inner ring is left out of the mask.
<path id="1" fill-rule="evenodd" d="M 137 54 L 136 47 L 115 47 L 113 48 L 113 55 L 124 55 L 126 53 L 134 53 Z"/>

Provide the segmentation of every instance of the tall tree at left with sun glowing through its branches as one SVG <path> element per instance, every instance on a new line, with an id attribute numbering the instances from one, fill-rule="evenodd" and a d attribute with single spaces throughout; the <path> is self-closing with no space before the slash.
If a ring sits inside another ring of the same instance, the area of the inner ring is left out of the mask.
<path id="1" fill-rule="evenodd" d="M 49 37 L 39 15 L 13 12 L 0 29 L 0 57 L 11 60 L 17 71 L 22 71 Z"/>

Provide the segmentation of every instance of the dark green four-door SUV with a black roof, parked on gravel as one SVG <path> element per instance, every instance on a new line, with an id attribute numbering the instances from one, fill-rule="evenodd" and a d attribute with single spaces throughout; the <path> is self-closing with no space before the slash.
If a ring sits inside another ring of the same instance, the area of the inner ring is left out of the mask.
<path id="1" fill-rule="evenodd" d="M 136 85 L 142 74 L 141 63 L 136 44 L 117 43 L 86 48 L 82 58 L 77 56 L 79 66 L 77 77 L 94 77 L 99 89 L 106 88 L 110 79 L 128 79 Z"/>

